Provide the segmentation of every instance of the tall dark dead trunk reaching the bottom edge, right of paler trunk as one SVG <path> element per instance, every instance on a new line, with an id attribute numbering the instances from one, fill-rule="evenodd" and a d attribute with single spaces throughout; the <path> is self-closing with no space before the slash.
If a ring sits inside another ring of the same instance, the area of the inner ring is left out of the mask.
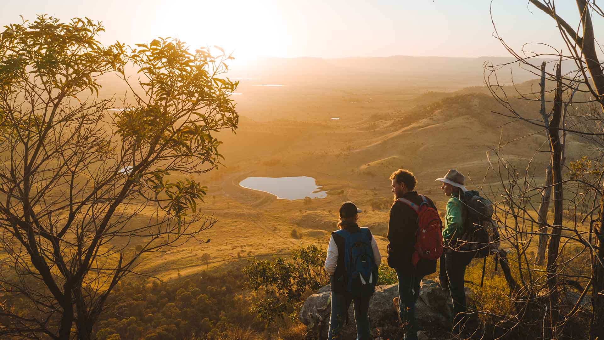
<path id="1" fill-rule="evenodd" d="M 551 121 L 548 126 L 548 137 L 552 150 L 551 171 L 554 183 L 554 223 L 551 227 L 551 238 L 547 249 L 547 287 L 549 290 L 550 336 L 551 339 L 559 337 L 559 322 L 561 315 L 557 304 L 559 300 L 557 290 L 557 266 L 560 235 L 562 234 L 562 144 L 559 136 L 559 125 L 562 118 L 562 72 L 561 65 L 556 67 L 556 97 L 551 110 Z"/>

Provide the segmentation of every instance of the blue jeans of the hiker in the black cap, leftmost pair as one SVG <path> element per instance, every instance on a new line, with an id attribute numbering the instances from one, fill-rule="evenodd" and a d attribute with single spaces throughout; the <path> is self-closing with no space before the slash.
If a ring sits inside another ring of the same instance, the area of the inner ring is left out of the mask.
<path id="1" fill-rule="evenodd" d="M 332 314 L 329 319 L 329 336 L 327 339 L 341 339 L 344 322 L 348 316 L 350 302 L 355 306 L 356 340 L 369 340 L 369 299 L 371 295 L 353 297 L 348 293 L 332 292 Z"/>

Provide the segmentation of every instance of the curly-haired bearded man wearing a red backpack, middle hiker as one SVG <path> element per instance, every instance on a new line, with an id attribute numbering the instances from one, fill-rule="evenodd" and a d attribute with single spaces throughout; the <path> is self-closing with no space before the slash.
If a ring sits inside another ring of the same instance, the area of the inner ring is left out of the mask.
<path id="1" fill-rule="evenodd" d="M 394 308 L 405 339 L 417 340 L 415 304 L 423 276 L 436 272 L 436 259 L 442 255 L 442 221 L 432 200 L 414 191 L 417 180 L 411 171 L 399 169 L 390 180 L 394 203 L 388 222 L 388 266 L 399 281 Z"/>

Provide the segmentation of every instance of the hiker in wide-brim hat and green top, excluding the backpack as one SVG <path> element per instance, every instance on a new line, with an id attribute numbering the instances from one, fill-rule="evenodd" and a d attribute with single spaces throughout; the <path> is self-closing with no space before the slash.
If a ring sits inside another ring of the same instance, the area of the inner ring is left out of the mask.
<path id="1" fill-rule="evenodd" d="M 443 289 L 448 289 L 451 292 L 454 328 L 455 325 L 461 323 L 460 316 L 467 310 L 464 276 L 466 266 L 474 257 L 472 252 L 459 252 L 450 247 L 463 234 L 464 221 L 468 214 L 466 205 L 463 203 L 463 193 L 467 191 L 464 186 L 465 179 L 464 175 L 455 169 L 449 169 L 445 177 L 436 179 L 443 183 L 440 188 L 449 197 L 445 215 L 445 229 L 443 229 L 445 251 L 440 258 L 439 281 Z"/>

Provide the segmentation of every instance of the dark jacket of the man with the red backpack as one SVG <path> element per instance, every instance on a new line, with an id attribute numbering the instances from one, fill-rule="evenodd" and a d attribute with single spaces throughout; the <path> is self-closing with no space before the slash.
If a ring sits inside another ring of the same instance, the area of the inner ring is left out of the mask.
<path id="1" fill-rule="evenodd" d="M 402 197 L 418 205 L 423 201 L 416 191 L 407 192 Z M 434 202 L 428 197 L 426 198 L 428 204 L 436 209 Z M 390 220 L 388 221 L 388 263 L 396 261 L 398 270 L 414 269 L 411 256 L 415 251 L 417 227 L 417 214 L 413 208 L 401 201 L 394 201 L 390 208 Z"/>

